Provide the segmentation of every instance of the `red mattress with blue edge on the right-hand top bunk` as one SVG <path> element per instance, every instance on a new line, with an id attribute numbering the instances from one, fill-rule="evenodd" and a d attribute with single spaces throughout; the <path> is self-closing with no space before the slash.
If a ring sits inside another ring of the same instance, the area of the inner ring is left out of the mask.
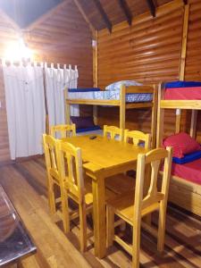
<path id="1" fill-rule="evenodd" d="M 164 87 L 166 100 L 201 100 L 201 82 L 175 81 Z"/>

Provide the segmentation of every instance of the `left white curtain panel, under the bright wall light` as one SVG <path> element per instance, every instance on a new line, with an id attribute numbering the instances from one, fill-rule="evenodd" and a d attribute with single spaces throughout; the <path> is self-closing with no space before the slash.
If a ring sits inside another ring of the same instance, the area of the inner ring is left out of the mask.
<path id="1" fill-rule="evenodd" d="M 43 68 L 3 63 L 11 158 L 43 153 L 46 131 Z"/>

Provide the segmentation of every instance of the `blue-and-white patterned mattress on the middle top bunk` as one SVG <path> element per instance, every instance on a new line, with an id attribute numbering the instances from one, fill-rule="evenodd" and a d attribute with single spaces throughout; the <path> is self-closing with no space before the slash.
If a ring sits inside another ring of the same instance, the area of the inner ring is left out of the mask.
<path id="1" fill-rule="evenodd" d="M 101 100 L 119 100 L 120 99 L 120 91 L 101 91 L 101 90 L 93 90 L 93 91 L 85 91 L 80 92 L 73 91 L 69 92 L 70 99 L 101 99 Z M 126 102 L 127 103 L 141 103 L 141 102 L 150 102 L 152 101 L 153 94 L 150 93 L 133 93 L 126 94 Z"/>

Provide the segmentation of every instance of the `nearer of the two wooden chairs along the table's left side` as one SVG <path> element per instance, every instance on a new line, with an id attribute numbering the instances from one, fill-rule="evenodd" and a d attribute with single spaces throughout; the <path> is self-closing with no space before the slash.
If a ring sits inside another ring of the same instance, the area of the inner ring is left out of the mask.
<path id="1" fill-rule="evenodd" d="M 84 252 L 87 249 L 87 239 L 92 235 L 92 233 L 87 234 L 87 214 L 92 211 L 93 204 L 91 179 L 84 176 L 79 147 L 61 140 L 57 141 L 56 147 L 61 178 L 63 229 L 69 232 L 70 221 L 80 216 L 80 249 Z M 79 205 L 78 212 L 70 214 L 69 197 Z M 114 197 L 113 192 L 105 191 L 105 198 L 111 197 Z"/>

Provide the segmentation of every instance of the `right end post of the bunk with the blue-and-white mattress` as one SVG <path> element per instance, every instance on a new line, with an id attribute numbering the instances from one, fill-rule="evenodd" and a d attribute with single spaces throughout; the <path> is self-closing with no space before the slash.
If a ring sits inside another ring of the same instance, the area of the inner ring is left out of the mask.
<path id="1" fill-rule="evenodd" d="M 153 106 L 152 106 L 152 122 L 151 122 L 151 135 L 152 135 L 152 148 L 155 148 L 156 143 L 156 121 L 157 121 L 157 88 L 153 86 Z"/>

